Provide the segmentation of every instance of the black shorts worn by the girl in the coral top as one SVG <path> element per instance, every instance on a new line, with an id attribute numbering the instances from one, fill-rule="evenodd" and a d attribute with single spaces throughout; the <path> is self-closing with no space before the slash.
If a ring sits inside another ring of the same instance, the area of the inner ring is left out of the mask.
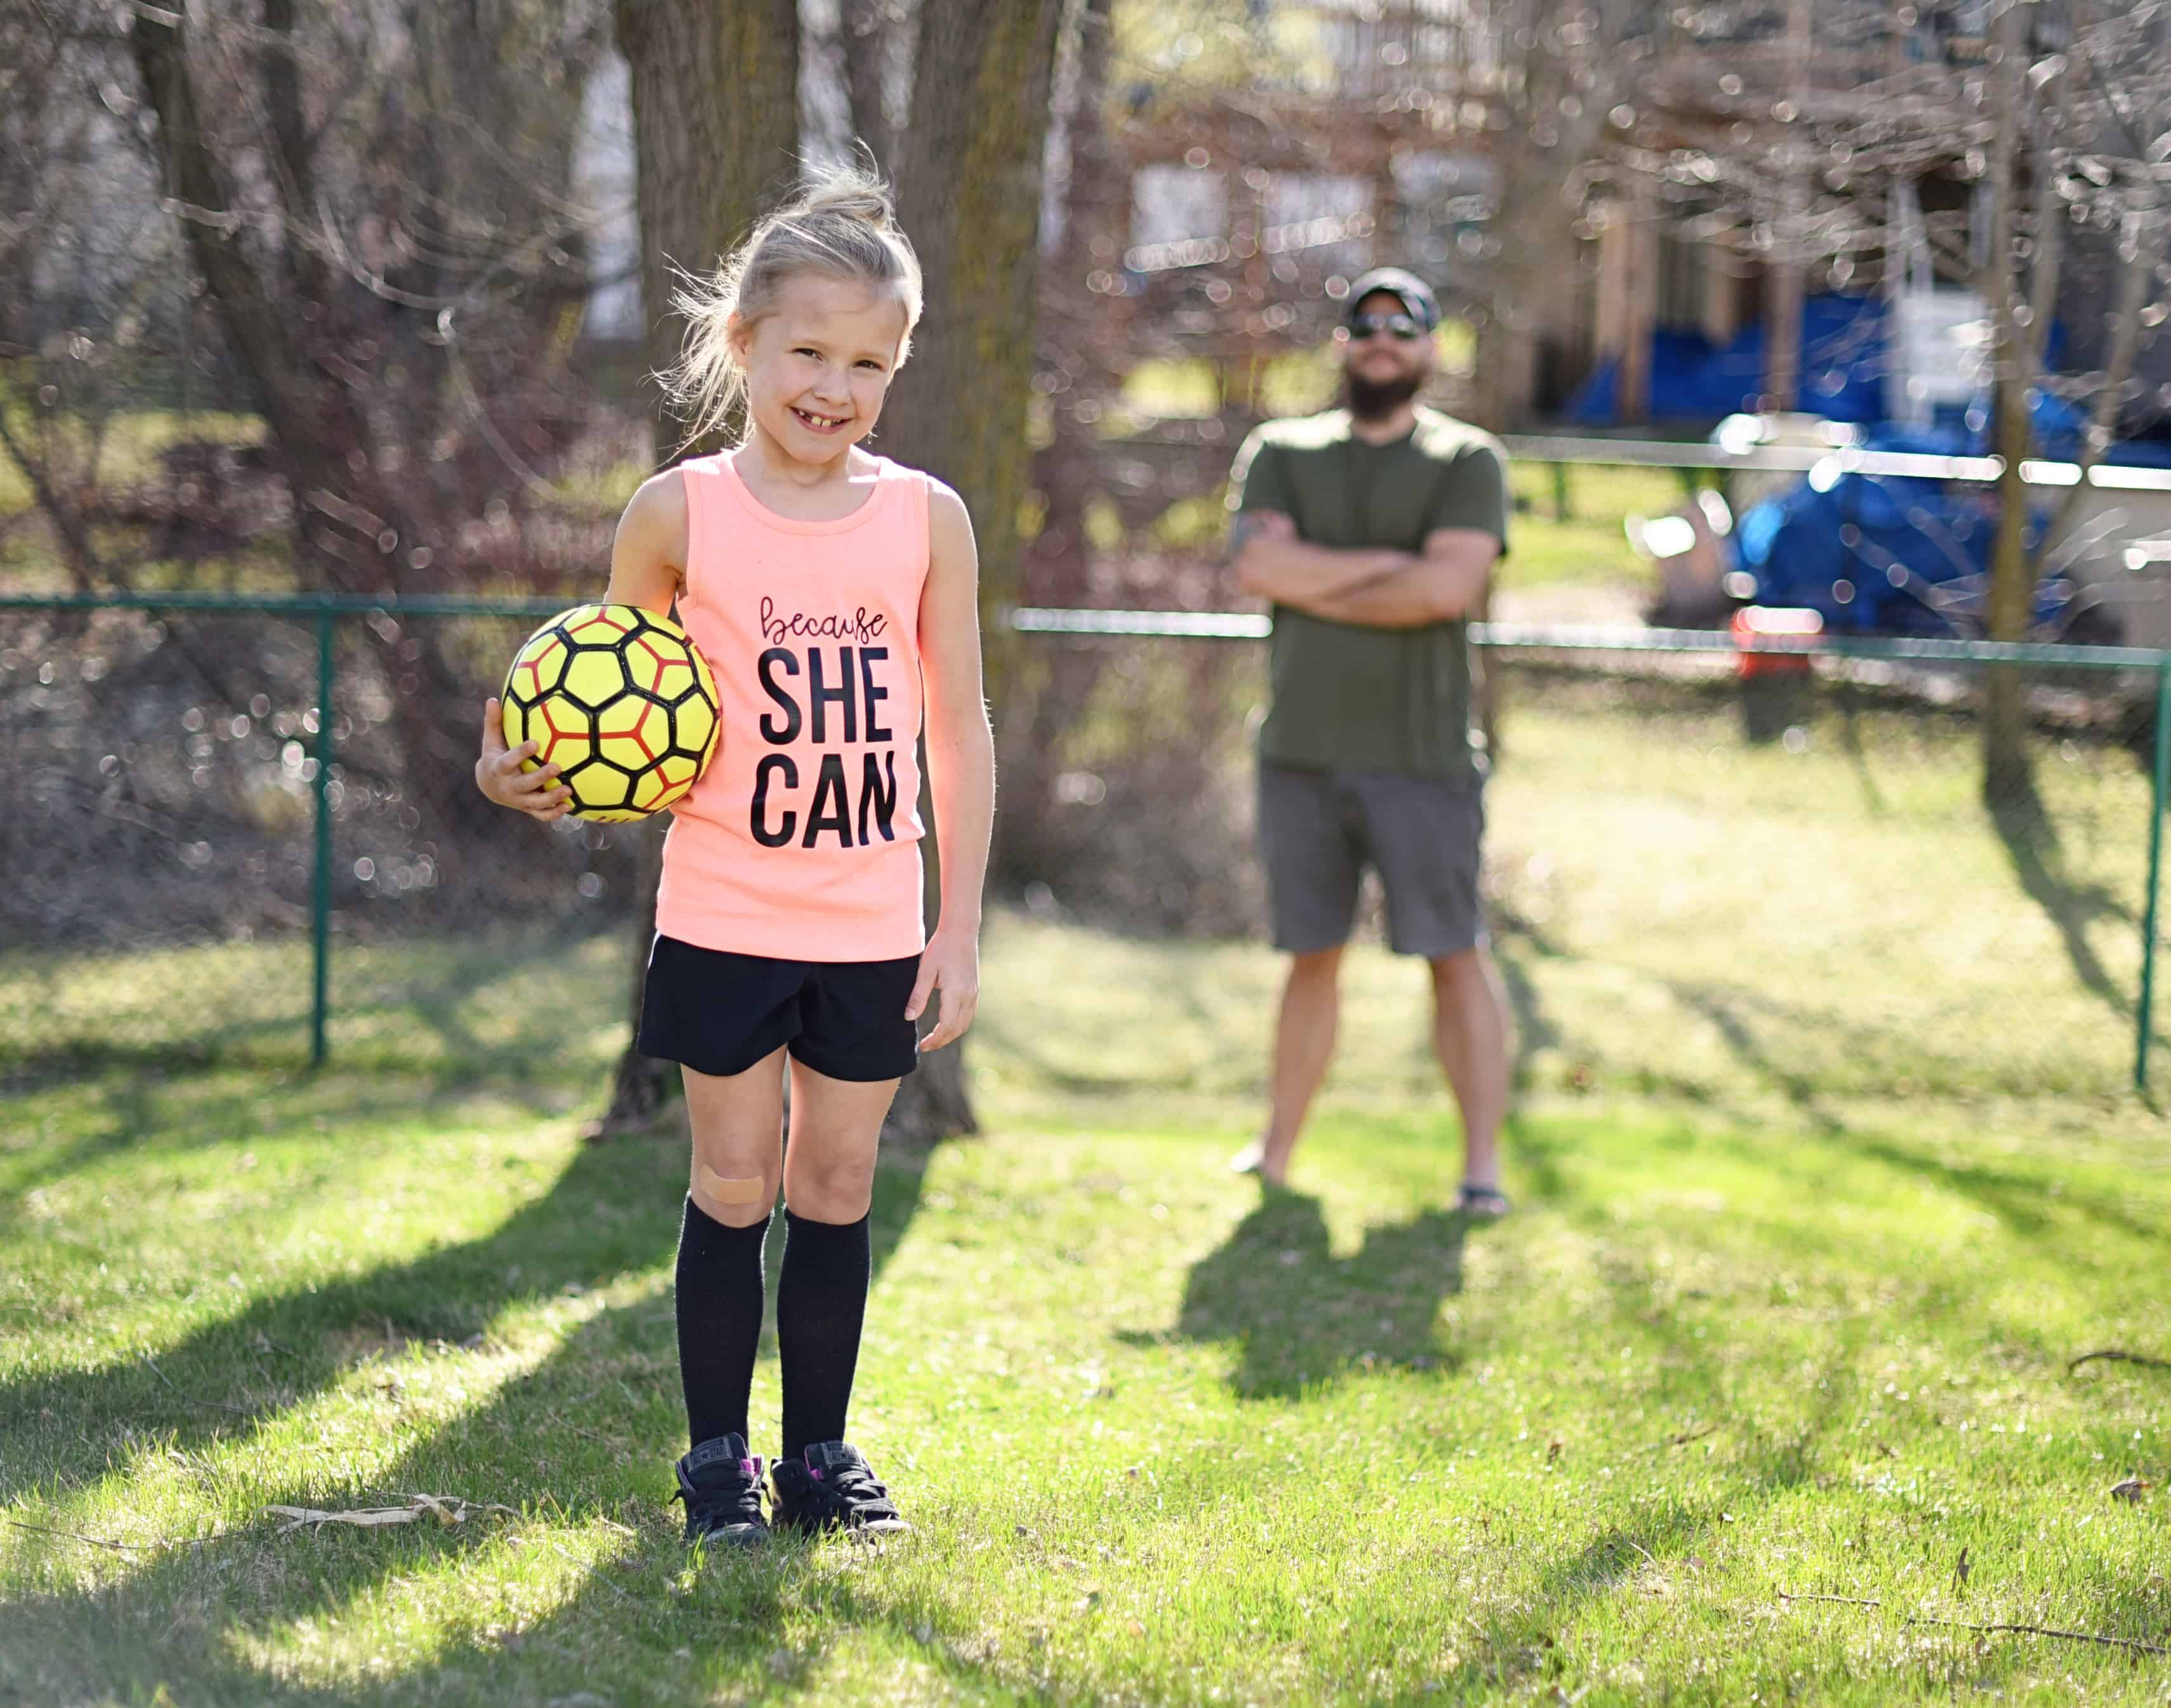
<path id="1" fill-rule="evenodd" d="M 643 1055 L 697 1074 L 742 1074 L 788 1048 L 829 1079 L 903 1079 L 918 1061 L 905 1020 L 921 957 L 775 961 L 658 935 L 640 990 Z"/>

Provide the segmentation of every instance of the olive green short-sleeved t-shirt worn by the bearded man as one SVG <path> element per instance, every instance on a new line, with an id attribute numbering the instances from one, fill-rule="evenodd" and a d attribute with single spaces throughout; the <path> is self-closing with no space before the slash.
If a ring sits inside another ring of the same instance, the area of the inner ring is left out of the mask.
<path id="1" fill-rule="evenodd" d="M 1418 551 L 1435 527 L 1476 527 L 1507 551 L 1507 451 L 1491 434 L 1420 408 L 1405 438 L 1368 445 L 1348 410 L 1266 421 L 1235 456 L 1231 510 L 1281 510 L 1311 545 Z M 1326 770 L 1465 775 L 1470 638 L 1331 623 L 1274 606 L 1259 757 Z"/>

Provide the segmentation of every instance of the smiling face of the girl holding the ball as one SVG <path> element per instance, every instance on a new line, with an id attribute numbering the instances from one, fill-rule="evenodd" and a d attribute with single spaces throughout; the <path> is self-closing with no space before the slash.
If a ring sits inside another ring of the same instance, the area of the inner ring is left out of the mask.
<path id="1" fill-rule="evenodd" d="M 801 273 L 773 315 L 732 317 L 753 425 L 799 462 L 834 462 L 875 430 L 905 343 L 897 291 Z"/>

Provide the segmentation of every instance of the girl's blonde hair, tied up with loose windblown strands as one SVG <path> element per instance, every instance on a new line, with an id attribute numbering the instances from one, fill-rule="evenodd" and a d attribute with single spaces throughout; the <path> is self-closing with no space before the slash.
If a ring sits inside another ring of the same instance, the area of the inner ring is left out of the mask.
<path id="1" fill-rule="evenodd" d="M 890 187 L 858 161 L 816 167 L 712 276 L 680 276 L 671 306 L 686 317 L 686 347 L 658 378 L 671 408 L 686 419 L 686 443 L 725 432 L 742 412 L 747 371 L 732 349 L 732 315 L 740 326 L 773 315 L 795 273 L 897 291 L 905 306 L 905 339 L 897 349 L 903 367 L 912 328 L 921 323 L 921 263 L 897 228 Z"/>

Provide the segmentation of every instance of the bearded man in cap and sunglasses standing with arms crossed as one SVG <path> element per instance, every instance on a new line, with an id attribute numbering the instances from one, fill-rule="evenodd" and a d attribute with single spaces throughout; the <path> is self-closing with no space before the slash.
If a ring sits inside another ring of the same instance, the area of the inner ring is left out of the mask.
<path id="1" fill-rule="evenodd" d="M 1290 957 L 1266 1131 L 1235 1168 L 1281 1185 L 1340 1020 L 1363 870 L 1387 942 L 1431 968 L 1433 1048 L 1463 1120 L 1457 1209 L 1500 1215 L 1509 1018 L 1478 907 L 1485 751 L 1470 729 L 1468 616 L 1507 549 L 1507 454 L 1418 404 L 1439 304 L 1359 278 L 1335 332 L 1342 408 L 1268 421 L 1237 451 L 1235 579 L 1274 608 L 1259 727 L 1259 840 Z"/>

